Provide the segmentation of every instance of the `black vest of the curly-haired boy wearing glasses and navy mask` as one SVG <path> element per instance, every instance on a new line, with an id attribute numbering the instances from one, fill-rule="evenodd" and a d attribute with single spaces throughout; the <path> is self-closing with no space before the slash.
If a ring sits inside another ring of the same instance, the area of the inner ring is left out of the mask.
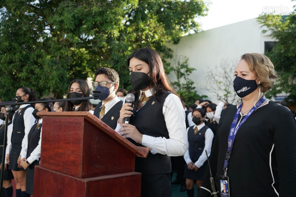
<path id="1" fill-rule="evenodd" d="M 102 104 L 103 103 L 98 104 L 94 109 L 94 115 L 98 118 L 100 117 Z M 122 108 L 122 104 L 123 104 L 122 101 L 118 101 L 113 107 L 111 107 L 111 109 L 101 119 L 106 125 L 108 125 L 112 129 L 115 129 L 117 126 L 117 121 L 119 119 L 120 109 Z"/>

